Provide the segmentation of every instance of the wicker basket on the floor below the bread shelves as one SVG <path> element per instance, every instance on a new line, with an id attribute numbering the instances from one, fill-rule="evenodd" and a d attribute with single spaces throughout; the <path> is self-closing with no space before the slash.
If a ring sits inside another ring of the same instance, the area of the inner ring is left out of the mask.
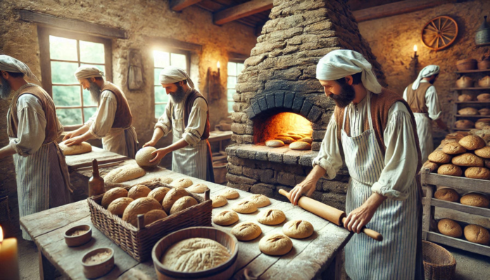
<path id="1" fill-rule="evenodd" d="M 456 259 L 448 250 L 422 240 L 425 279 L 454 279 Z"/>

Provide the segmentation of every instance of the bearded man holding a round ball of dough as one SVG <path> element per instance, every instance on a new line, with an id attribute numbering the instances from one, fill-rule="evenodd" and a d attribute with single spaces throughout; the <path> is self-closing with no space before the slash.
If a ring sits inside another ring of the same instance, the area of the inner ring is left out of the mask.
<path id="1" fill-rule="evenodd" d="M 161 70 L 160 83 L 170 95 L 170 102 L 158 118 L 151 141 L 144 146 L 155 146 L 171 131 L 172 145 L 154 151 L 151 162 L 172 153 L 172 171 L 214 182 L 206 98 L 194 89 L 187 72 L 175 66 Z"/>

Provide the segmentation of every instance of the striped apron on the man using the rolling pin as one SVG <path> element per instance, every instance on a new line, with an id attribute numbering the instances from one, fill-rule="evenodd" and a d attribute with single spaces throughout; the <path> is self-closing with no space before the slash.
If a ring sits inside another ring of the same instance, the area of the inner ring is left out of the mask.
<path id="1" fill-rule="evenodd" d="M 367 98 L 370 98 L 368 94 Z M 378 181 L 384 168 L 384 155 L 372 128 L 370 99 L 368 120 L 370 129 L 350 137 L 342 127 L 342 147 L 348 172 L 346 212 L 359 208 L 372 195 L 371 186 Z M 375 241 L 365 234 L 354 234 L 346 245 L 346 272 L 351 279 L 415 279 L 417 253 L 417 182 L 413 179 L 410 196 L 405 201 L 387 199 L 366 224 L 383 235 Z"/>

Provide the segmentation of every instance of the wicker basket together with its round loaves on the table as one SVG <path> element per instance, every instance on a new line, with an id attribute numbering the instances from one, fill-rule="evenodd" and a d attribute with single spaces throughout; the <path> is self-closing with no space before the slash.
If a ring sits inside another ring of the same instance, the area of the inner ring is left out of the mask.
<path id="1" fill-rule="evenodd" d="M 135 260 L 151 257 L 155 243 L 187 227 L 211 227 L 209 191 L 200 196 L 185 188 L 188 178 L 158 178 L 134 186 L 108 189 L 87 198 L 94 226 Z"/>

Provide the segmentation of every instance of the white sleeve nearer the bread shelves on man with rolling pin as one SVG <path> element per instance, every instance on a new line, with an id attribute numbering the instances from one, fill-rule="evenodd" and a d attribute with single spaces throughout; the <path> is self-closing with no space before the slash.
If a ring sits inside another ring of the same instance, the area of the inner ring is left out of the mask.
<path id="1" fill-rule="evenodd" d="M 406 106 L 396 102 L 391 106 L 388 125 L 384 129 L 384 169 L 372 192 L 403 201 L 408 198 L 413 178 L 417 173 L 417 146 L 413 133 L 412 119 Z"/>

